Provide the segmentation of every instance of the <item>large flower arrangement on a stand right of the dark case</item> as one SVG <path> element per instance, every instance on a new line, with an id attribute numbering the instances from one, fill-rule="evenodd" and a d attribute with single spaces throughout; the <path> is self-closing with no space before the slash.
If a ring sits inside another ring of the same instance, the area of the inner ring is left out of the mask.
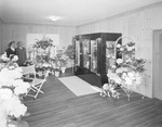
<path id="1" fill-rule="evenodd" d="M 121 88 L 130 97 L 132 89 L 138 88 L 144 82 L 144 59 L 135 59 L 135 43 L 129 42 L 124 46 L 117 45 L 122 59 L 109 58 L 108 79 Z"/>

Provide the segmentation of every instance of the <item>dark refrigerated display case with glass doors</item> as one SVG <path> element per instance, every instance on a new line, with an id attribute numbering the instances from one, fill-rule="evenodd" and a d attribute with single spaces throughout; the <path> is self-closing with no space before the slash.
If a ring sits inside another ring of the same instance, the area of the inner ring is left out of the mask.
<path id="1" fill-rule="evenodd" d="M 107 55 L 114 53 L 113 43 L 121 36 L 119 33 L 95 33 L 75 36 L 75 65 L 78 68 L 75 73 L 107 75 L 109 63 Z"/>

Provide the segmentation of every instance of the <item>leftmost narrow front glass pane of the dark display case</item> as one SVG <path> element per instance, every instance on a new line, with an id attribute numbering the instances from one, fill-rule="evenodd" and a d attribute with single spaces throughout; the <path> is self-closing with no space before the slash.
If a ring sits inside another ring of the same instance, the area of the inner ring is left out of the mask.
<path id="1" fill-rule="evenodd" d="M 80 66 L 80 41 L 76 41 L 76 65 Z"/>

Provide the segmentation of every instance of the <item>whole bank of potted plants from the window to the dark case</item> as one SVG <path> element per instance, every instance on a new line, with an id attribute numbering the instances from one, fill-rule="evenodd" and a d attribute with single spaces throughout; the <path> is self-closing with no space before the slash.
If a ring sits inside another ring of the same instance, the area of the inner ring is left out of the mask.
<path id="1" fill-rule="evenodd" d="M 32 54 L 32 63 L 36 64 L 36 69 L 40 75 L 46 73 L 55 74 L 60 71 L 64 73 L 67 60 L 71 56 L 69 50 L 69 47 L 65 50 L 54 46 L 53 40 L 50 38 L 37 40 L 36 43 L 29 47 L 29 52 Z M 31 56 L 29 58 L 31 59 Z"/>

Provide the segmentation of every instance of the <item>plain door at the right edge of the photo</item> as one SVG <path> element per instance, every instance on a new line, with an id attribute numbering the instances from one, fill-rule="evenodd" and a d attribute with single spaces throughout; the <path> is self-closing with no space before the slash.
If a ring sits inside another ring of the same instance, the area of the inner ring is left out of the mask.
<path id="1" fill-rule="evenodd" d="M 153 98 L 162 100 L 162 29 L 153 31 Z"/>

